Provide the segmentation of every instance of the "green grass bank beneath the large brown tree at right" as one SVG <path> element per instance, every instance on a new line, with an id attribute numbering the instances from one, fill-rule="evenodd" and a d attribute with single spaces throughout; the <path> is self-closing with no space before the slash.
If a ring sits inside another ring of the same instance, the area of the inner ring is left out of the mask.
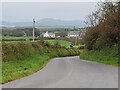
<path id="1" fill-rule="evenodd" d="M 118 46 L 107 47 L 104 49 L 98 50 L 84 50 L 80 54 L 80 59 L 100 62 L 103 64 L 109 64 L 118 66 Z"/>

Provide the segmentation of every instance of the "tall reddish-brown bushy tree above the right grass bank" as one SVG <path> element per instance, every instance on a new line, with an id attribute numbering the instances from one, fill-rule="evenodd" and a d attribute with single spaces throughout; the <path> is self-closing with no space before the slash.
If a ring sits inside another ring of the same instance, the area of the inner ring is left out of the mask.
<path id="1" fill-rule="evenodd" d="M 101 2 L 98 9 L 88 15 L 88 30 L 84 43 L 89 50 L 100 50 L 118 44 L 120 34 L 120 2 Z"/>

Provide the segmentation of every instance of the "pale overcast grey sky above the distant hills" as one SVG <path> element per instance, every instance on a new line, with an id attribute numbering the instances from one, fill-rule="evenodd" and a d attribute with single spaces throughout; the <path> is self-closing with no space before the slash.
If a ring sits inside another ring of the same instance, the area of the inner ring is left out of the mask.
<path id="1" fill-rule="evenodd" d="M 4 2 L 2 21 L 29 22 L 43 18 L 85 20 L 96 9 L 96 2 Z M 1 17 L 1 16 L 0 16 Z"/>

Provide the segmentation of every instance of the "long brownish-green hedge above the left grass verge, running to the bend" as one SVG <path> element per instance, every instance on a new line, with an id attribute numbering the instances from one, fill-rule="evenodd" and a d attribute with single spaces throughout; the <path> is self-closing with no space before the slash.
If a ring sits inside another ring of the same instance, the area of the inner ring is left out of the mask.
<path id="1" fill-rule="evenodd" d="M 36 42 L 10 42 L 2 44 L 3 61 L 24 60 L 36 55 L 50 54 L 54 56 L 78 55 L 73 49 L 61 47 L 57 42 L 55 46 L 41 46 Z"/>

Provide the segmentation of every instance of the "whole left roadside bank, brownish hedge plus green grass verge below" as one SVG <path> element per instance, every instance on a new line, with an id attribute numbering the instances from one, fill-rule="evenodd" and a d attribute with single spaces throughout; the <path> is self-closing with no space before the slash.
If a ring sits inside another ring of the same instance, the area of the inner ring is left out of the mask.
<path id="1" fill-rule="evenodd" d="M 2 81 L 22 78 L 42 69 L 54 57 L 75 56 L 80 51 L 75 48 L 46 47 L 37 42 L 2 43 Z"/>

